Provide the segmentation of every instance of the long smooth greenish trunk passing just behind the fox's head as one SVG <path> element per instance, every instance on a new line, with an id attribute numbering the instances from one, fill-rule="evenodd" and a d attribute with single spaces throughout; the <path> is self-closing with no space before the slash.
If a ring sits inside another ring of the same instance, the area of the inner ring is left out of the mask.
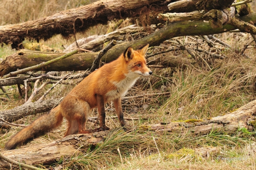
<path id="1" fill-rule="evenodd" d="M 249 14 L 244 17 L 240 17 L 239 19 L 253 23 L 256 22 L 256 13 Z M 209 23 L 203 21 L 183 21 L 176 22 L 167 25 L 164 28 L 161 28 L 157 32 L 150 34 L 147 37 L 142 39 L 138 39 L 133 42 L 126 43 L 121 46 L 117 46 L 116 48 L 110 49 L 107 54 L 102 57 L 102 61 L 110 62 L 115 60 L 124 50 L 131 46 L 133 49 L 138 49 L 145 44 L 149 44 L 150 46 L 156 46 L 162 43 L 167 39 L 171 39 L 179 36 L 188 36 L 188 35 L 212 35 L 218 34 L 222 32 L 228 32 L 231 30 L 235 30 L 236 28 L 232 25 L 223 25 L 223 28 L 215 28 L 213 29 Z M 61 60 L 55 64 L 49 65 L 48 67 L 44 67 L 40 70 L 44 71 L 78 71 L 78 70 L 86 70 L 90 69 L 94 57 L 98 53 L 83 53 L 83 54 L 75 54 L 67 59 Z M 42 52 L 31 52 L 28 50 L 18 51 L 11 56 L 7 57 L 0 64 L 0 76 L 8 74 L 12 71 L 16 71 L 17 69 L 26 68 L 32 65 L 39 64 L 41 62 L 45 62 L 48 60 L 52 60 L 53 58 L 57 58 L 63 53 L 42 53 Z"/>

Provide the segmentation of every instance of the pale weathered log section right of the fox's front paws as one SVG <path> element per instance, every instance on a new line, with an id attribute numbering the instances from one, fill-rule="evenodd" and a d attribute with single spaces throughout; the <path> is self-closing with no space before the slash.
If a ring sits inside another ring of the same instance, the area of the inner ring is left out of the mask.
<path id="1" fill-rule="evenodd" d="M 238 128 L 253 130 L 256 125 L 256 100 L 242 106 L 238 110 L 223 116 L 211 117 L 207 120 L 189 119 L 170 124 L 154 124 L 150 130 L 164 134 L 206 135 L 211 131 L 223 131 L 232 134 Z"/>

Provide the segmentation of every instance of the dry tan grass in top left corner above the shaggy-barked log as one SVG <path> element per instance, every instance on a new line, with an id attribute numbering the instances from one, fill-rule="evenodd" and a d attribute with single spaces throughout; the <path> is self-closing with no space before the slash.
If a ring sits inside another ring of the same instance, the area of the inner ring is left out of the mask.
<path id="1" fill-rule="evenodd" d="M 0 25 L 17 24 L 51 16 L 57 12 L 91 4 L 96 0 L 3 0 L 0 6 Z"/>

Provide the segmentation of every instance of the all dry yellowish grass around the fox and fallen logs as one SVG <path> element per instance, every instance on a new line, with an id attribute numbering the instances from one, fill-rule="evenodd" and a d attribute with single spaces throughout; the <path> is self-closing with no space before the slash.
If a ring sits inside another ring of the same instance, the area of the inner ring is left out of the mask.
<path id="1" fill-rule="evenodd" d="M 85 1 L 36 1 L 36 3 L 31 3 L 25 0 L 5 0 L 1 6 L 1 24 L 13 24 L 37 19 L 81 4 L 85 4 Z M 26 6 L 25 9 L 24 6 Z M 85 34 L 102 33 L 105 30 L 106 26 L 98 26 L 97 29 Z M 83 35 L 77 35 L 78 38 L 79 36 L 82 37 Z M 250 34 L 223 33 L 216 35 L 216 37 L 232 46 L 226 48 L 215 43 L 227 56 L 224 60 L 211 59 L 204 55 L 205 60 L 212 68 L 219 66 L 218 68 L 210 71 L 200 59 L 197 59 L 195 63 L 183 68 L 152 69 L 154 74 L 162 78 L 156 76 L 147 79 L 141 78 L 128 91 L 126 96 L 166 91 L 170 91 L 171 95 L 123 100 L 125 117 L 147 117 L 148 120 L 128 121 L 129 125 L 135 127 L 134 131 L 116 131 L 95 149 L 84 155 L 63 158 L 58 164 L 63 169 L 255 169 L 255 132 L 238 130 L 233 135 L 228 135 L 220 131 L 213 131 L 211 134 L 195 137 L 188 134 L 182 136 L 179 134 L 156 135 L 142 128 L 143 125 L 155 124 L 163 120 L 176 121 L 216 117 L 256 99 L 256 53 L 255 47 L 253 47 L 254 44 L 252 43 L 245 51 L 250 58 L 237 53 L 237 50 L 241 50 L 247 42 L 252 40 Z M 196 46 L 207 51 L 214 49 L 210 48 L 201 39 L 197 39 L 198 43 L 193 37 L 181 37 L 179 39 L 192 49 L 196 49 Z M 60 36 L 56 36 L 46 42 L 41 42 L 52 48 L 61 49 L 62 44 L 68 45 L 72 41 L 63 40 Z M 163 43 L 161 46 L 168 48 L 175 46 L 175 44 Z M 4 46 L 1 50 L 0 55 L 3 58 L 12 53 L 9 46 Z M 156 48 L 153 53 L 161 50 L 163 49 Z M 160 54 L 155 58 L 161 60 L 163 55 L 192 58 L 185 50 Z M 78 73 L 80 72 L 74 74 Z M 62 74 L 66 75 L 67 72 L 62 72 Z M 77 84 L 76 81 L 66 80 L 65 82 L 69 85 L 58 85 L 47 98 L 67 95 Z M 51 86 L 47 85 L 40 91 L 35 100 Z M 6 89 L 8 92 L 12 92 L 10 95 L 12 100 L 8 102 L 1 101 L 1 110 L 11 109 L 24 103 L 24 99 L 19 96 L 17 86 L 7 87 Z M 116 115 L 113 103 L 107 103 L 106 108 L 108 108 L 106 111 L 108 116 Z M 29 124 L 40 115 L 24 117 L 15 123 Z M 91 116 L 96 115 L 97 110 L 94 109 Z M 107 119 L 106 123 L 110 128 L 119 127 L 116 119 Z M 49 143 L 54 139 L 61 138 L 65 133 L 65 128 L 66 122 L 64 121 L 60 128 L 33 140 L 28 145 Z M 94 128 L 93 123 L 88 122 L 87 128 Z M 4 129 L 0 131 L 0 151 L 3 150 L 7 140 L 20 129 L 20 127 L 13 127 L 8 131 Z M 22 147 L 28 147 L 28 145 Z M 242 158 L 242 160 L 233 159 L 229 161 L 221 160 L 221 158 L 218 160 L 218 156 L 230 159 Z M 52 166 L 57 167 L 58 164 Z"/>

